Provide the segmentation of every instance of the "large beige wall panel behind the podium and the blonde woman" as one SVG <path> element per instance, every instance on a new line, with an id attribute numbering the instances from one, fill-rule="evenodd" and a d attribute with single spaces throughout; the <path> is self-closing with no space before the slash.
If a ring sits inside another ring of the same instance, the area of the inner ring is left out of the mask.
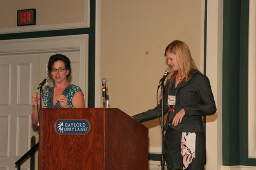
<path id="1" fill-rule="evenodd" d="M 164 50 L 175 39 L 189 45 L 202 70 L 201 4 L 201 0 L 101 0 L 100 77 L 108 79 L 110 107 L 134 115 L 156 106 L 158 81 L 168 67 Z M 158 120 L 144 125 L 149 128 L 149 145 L 160 147 Z"/>

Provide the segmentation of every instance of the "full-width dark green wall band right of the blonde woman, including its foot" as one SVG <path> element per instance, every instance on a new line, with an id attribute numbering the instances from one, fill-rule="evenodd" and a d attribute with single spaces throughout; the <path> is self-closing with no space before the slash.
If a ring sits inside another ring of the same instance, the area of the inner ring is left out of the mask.
<path id="1" fill-rule="evenodd" d="M 223 1 L 222 162 L 256 166 L 248 158 L 249 0 Z"/>

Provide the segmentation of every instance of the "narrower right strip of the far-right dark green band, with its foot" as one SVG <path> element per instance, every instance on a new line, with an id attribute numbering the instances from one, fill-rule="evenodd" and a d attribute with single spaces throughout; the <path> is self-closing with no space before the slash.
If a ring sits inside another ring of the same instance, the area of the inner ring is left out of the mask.
<path id="1" fill-rule="evenodd" d="M 248 36 L 249 0 L 241 0 L 240 32 L 240 163 L 256 166 L 256 159 L 248 158 Z"/>

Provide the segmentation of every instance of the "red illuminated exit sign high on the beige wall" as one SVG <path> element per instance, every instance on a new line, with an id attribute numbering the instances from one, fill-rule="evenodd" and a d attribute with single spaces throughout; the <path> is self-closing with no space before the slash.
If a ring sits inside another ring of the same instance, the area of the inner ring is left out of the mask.
<path id="1" fill-rule="evenodd" d="M 35 25 L 36 9 L 23 9 L 17 11 L 17 26 Z"/>

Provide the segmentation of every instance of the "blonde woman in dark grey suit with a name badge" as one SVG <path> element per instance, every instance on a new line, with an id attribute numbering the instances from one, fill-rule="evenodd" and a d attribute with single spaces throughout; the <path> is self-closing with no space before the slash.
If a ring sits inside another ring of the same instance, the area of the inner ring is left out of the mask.
<path id="1" fill-rule="evenodd" d="M 203 170 L 205 135 L 202 116 L 216 112 L 210 82 L 196 68 L 186 43 L 173 41 L 166 47 L 165 56 L 172 69 L 163 96 L 164 113 L 168 113 L 164 126 L 165 159 L 169 167 L 175 164 L 179 170 Z M 162 113 L 162 103 L 133 117 L 144 122 L 158 118 L 159 113 Z"/>

